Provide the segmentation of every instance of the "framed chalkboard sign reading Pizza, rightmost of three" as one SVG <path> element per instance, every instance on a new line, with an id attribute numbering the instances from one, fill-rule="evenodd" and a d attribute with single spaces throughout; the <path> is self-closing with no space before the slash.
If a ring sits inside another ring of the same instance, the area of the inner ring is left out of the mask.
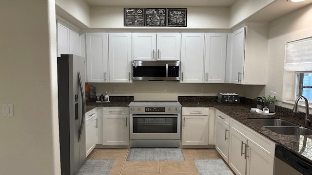
<path id="1" fill-rule="evenodd" d="M 168 27 L 186 27 L 186 8 L 168 8 L 167 9 L 167 26 Z"/>

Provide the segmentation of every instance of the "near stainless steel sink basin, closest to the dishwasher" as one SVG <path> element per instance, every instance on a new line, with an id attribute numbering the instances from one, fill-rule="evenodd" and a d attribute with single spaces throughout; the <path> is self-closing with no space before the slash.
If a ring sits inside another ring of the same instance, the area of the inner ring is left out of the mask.
<path id="1" fill-rule="evenodd" d="M 273 127 L 273 126 L 267 126 L 265 127 L 267 129 L 270 129 L 271 131 L 277 133 L 277 134 L 284 134 L 284 135 L 312 135 L 312 130 L 307 129 L 304 127 L 291 127 L 291 126 L 284 126 L 284 127 Z"/>

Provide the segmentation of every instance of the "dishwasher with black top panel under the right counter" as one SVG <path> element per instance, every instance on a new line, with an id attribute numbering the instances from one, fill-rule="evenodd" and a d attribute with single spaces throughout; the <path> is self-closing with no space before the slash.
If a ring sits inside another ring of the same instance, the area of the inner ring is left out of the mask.
<path id="1" fill-rule="evenodd" d="M 312 175 L 312 163 L 280 145 L 275 147 L 274 175 Z"/>

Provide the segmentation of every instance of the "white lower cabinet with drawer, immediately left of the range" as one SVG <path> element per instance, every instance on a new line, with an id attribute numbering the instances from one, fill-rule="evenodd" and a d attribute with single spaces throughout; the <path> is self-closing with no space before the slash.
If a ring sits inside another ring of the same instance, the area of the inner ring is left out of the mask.
<path id="1" fill-rule="evenodd" d="M 129 145 L 129 108 L 103 107 L 103 145 Z"/>

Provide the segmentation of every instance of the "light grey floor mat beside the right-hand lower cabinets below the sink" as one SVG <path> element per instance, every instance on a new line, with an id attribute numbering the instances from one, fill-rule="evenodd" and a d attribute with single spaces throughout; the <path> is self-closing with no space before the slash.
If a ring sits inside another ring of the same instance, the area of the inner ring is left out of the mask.
<path id="1" fill-rule="evenodd" d="M 233 175 L 222 159 L 194 159 L 199 175 Z"/>

